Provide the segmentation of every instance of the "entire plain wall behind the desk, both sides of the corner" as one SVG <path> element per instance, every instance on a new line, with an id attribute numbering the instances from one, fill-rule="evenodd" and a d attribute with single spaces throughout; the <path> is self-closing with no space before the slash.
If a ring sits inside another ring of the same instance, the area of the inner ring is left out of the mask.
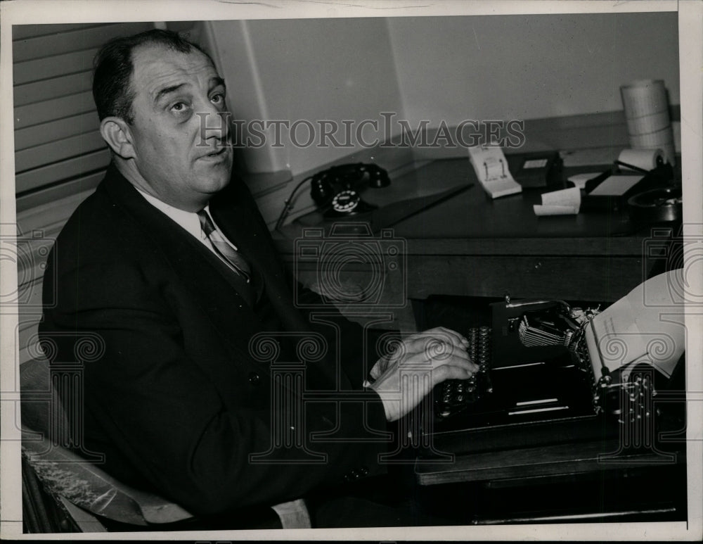
<path id="1" fill-rule="evenodd" d="M 217 21 L 204 37 L 244 120 L 382 126 L 380 113 L 395 112 L 437 127 L 599 113 L 621 110 L 620 85 L 640 78 L 663 79 L 679 102 L 676 13 Z M 360 151 L 355 138 L 283 143 L 243 151 L 247 170 L 295 175 Z"/>

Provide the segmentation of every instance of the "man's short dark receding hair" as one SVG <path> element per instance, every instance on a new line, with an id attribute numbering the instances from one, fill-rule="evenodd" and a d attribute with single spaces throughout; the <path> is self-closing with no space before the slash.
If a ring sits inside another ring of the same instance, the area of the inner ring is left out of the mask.
<path id="1" fill-rule="evenodd" d="M 132 54 L 136 47 L 142 45 L 163 46 L 180 53 L 190 53 L 195 49 L 212 62 L 200 46 L 170 30 L 146 30 L 133 36 L 111 39 L 101 47 L 93 62 L 93 100 L 100 120 L 114 116 L 130 125 L 134 121 L 131 111 L 134 100 L 134 90 L 131 89 L 131 75 L 134 72 Z"/>

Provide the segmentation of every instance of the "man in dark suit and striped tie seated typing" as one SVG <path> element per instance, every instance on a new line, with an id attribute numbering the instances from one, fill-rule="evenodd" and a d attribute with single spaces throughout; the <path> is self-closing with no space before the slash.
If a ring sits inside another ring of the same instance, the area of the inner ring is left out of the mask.
<path id="1" fill-rule="evenodd" d="M 57 292 L 44 282 L 57 303 L 40 325 L 54 365 L 75 360 L 80 333 L 100 339 L 72 422 L 82 448 L 104 453 L 117 479 L 203 515 L 382 474 L 387 421 L 476 371 L 465 339 L 415 335 L 369 376 L 359 326 L 334 312 L 311 324 L 295 307 L 266 224 L 232 179 L 224 81 L 193 44 L 158 30 L 110 42 L 93 96 L 112 164 L 58 236 L 46 270 Z M 299 361 L 305 338 L 318 353 L 275 379 L 266 348 Z M 431 341 L 446 354 L 427 353 Z M 411 363 L 431 370 L 419 390 L 401 379 Z"/>

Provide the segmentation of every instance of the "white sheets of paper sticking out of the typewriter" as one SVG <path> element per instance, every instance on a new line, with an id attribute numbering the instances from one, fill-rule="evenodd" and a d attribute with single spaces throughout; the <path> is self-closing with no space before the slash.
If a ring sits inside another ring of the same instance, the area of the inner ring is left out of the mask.
<path id="1" fill-rule="evenodd" d="M 670 377 L 685 349 L 683 286 L 681 270 L 665 272 L 596 315 L 586 329 L 594 369 L 645 362 Z"/>

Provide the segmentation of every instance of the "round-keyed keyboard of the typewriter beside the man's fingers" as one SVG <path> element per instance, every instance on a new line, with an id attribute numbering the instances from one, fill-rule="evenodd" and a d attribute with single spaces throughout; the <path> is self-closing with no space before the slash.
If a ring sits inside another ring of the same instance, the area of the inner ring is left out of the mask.
<path id="1" fill-rule="evenodd" d="M 440 419 L 461 412 L 493 391 L 489 369 L 491 366 L 491 328 L 475 327 L 466 336 L 471 360 L 479 365 L 479 372 L 465 380 L 446 380 L 434 388 L 434 414 Z"/>

